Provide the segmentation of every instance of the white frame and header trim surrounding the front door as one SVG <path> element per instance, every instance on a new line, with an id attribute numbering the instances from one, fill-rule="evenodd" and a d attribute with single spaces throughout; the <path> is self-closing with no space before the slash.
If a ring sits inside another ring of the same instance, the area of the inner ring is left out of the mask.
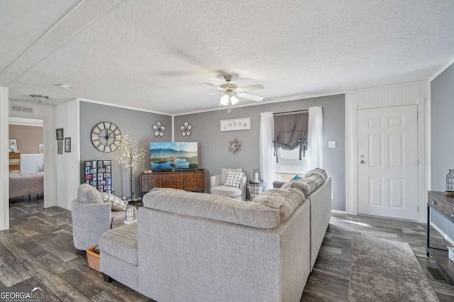
<path id="1" fill-rule="evenodd" d="M 367 88 L 345 93 L 345 209 L 358 214 L 358 110 L 417 105 L 418 221 L 426 222 L 426 192 L 430 188 L 430 98 L 428 81 Z"/>

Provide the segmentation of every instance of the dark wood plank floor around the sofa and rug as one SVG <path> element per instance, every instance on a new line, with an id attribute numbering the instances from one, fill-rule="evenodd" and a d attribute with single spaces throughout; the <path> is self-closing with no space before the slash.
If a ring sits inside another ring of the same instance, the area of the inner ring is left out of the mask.
<path id="1" fill-rule="evenodd" d="M 454 285 L 426 257 L 424 224 L 345 214 L 333 214 L 301 301 L 347 301 L 355 235 L 409 243 L 438 298 L 454 301 Z M 441 236 L 431 240 L 444 244 Z M 44 209 L 43 199 L 10 201 L 10 229 L 0 231 L 0 286 L 41 286 L 48 301 L 153 301 L 89 269 L 85 252 L 72 245 L 70 211 Z"/>

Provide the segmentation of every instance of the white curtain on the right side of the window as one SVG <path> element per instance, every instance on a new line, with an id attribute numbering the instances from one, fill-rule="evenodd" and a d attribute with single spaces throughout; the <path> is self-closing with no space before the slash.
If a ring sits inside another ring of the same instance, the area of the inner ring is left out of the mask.
<path id="1" fill-rule="evenodd" d="M 307 129 L 307 168 L 323 168 L 323 141 L 321 129 L 323 114 L 320 107 L 309 108 L 309 121 Z"/>

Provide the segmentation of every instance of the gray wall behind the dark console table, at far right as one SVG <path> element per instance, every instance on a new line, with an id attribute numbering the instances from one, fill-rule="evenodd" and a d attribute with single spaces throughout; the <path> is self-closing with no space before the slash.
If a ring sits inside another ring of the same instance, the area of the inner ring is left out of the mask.
<path id="1" fill-rule="evenodd" d="M 431 188 L 446 190 L 446 174 L 454 169 L 454 64 L 431 81 Z M 432 222 L 454 240 L 452 223 L 436 211 Z"/>

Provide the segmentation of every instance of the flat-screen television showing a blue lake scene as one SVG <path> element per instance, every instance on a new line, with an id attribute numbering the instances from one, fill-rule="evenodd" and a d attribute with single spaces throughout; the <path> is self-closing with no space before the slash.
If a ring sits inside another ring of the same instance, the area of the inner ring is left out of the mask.
<path id="1" fill-rule="evenodd" d="M 197 151 L 197 142 L 151 142 L 150 170 L 196 169 Z"/>

